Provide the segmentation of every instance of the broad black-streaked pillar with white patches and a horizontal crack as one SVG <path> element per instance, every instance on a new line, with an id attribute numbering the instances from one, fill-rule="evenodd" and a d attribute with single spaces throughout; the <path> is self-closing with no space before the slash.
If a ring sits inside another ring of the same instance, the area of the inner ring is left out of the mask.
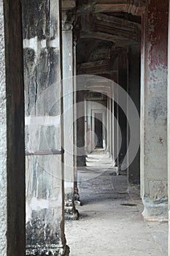
<path id="1" fill-rule="evenodd" d="M 64 236 L 61 1 L 23 1 L 26 255 L 69 255 Z"/>

